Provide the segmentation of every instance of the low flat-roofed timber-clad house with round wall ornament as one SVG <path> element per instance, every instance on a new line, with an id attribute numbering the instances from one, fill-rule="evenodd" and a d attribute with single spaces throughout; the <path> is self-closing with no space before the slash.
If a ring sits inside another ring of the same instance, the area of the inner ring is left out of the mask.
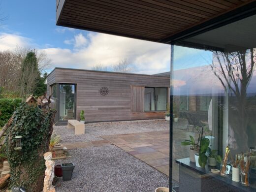
<path id="1" fill-rule="evenodd" d="M 56 102 L 56 122 L 164 118 L 169 77 L 82 69 L 55 68 L 47 77 L 47 95 Z"/>

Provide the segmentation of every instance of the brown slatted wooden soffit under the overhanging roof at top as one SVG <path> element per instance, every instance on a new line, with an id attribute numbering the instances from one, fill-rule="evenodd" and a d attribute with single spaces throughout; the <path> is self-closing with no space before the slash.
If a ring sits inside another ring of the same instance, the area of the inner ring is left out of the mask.
<path id="1" fill-rule="evenodd" d="M 57 25 L 170 43 L 170 37 L 254 0 L 57 0 Z"/>

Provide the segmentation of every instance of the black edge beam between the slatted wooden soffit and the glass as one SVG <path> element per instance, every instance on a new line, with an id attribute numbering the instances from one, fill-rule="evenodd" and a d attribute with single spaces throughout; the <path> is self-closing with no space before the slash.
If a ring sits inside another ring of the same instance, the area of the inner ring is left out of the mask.
<path id="1" fill-rule="evenodd" d="M 256 0 L 252 0 L 251 2 L 238 7 L 232 11 L 226 12 L 220 16 L 217 16 L 213 19 L 210 19 L 206 22 L 198 24 L 192 28 L 189 28 L 183 32 L 178 32 L 176 34 L 170 35 L 169 37 L 163 38 L 160 40 L 161 43 L 166 44 L 176 44 L 185 39 L 193 37 L 195 35 L 201 34 L 203 32 L 208 32 L 224 25 L 233 23 L 235 21 L 239 21 L 246 17 L 250 17 L 256 14 Z M 179 44 L 182 45 L 182 42 Z M 186 44 L 184 45 L 186 46 Z"/>

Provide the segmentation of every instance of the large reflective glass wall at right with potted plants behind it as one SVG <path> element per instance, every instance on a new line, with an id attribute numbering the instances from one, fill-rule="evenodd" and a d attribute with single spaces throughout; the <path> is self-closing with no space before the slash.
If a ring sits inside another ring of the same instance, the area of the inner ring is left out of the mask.
<path id="1" fill-rule="evenodd" d="M 174 46 L 173 112 L 181 119 L 173 122 L 172 136 L 177 191 L 256 191 L 253 46 L 226 45 L 223 51 Z"/>

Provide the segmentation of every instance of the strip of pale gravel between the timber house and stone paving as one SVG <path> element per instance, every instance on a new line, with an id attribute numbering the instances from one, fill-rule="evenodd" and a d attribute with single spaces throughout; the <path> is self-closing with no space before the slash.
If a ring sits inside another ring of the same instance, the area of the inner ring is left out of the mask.
<path id="1" fill-rule="evenodd" d="M 73 128 L 55 126 L 54 133 L 61 135 L 63 142 L 82 142 L 102 140 L 101 135 L 115 135 L 155 130 L 169 130 L 169 122 L 165 120 L 140 120 L 124 122 L 89 123 L 85 125 L 85 133 L 75 135 Z"/>

